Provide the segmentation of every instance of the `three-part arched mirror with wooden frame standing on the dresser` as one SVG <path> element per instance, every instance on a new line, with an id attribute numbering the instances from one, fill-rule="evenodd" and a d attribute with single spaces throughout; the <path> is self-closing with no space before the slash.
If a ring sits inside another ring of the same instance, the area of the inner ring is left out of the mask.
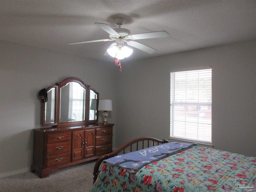
<path id="1" fill-rule="evenodd" d="M 67 78 L 47 88 L 43 126 L 79 125 L 98 121 L 99 93 L 79 78 Z"/>

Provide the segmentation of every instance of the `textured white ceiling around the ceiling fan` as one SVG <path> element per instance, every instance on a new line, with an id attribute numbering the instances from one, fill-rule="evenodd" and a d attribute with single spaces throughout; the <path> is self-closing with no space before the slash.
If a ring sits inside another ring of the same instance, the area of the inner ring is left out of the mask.
<path id="1" fill-rule="evenodd" d="M 0 40 L 113 62 L 112 42 L 68 42 L 108 38 L 94 23 L 118 28 L 120 16 L 132 34 L 170 34 L 137 40 L 157 52 L 133 48 L 122 62 L 256 38 L 256 0 L 0 0 Z"/>

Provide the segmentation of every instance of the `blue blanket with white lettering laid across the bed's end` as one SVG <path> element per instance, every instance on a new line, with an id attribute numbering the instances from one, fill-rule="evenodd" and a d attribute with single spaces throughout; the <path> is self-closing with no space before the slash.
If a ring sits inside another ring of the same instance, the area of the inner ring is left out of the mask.
<path id="1" fill-rule="evenodd" d="M 162 158 L 165 158 L 167 156 L 178 153 L 182 150 L 196 145 L 196 143 L 188 144 L 170 142 L 150 148 L 145 148 L 135 152 L 118 155 L 104 160 L 103 162 L 105 164 L 119 166 L 129 172 L 135 173 L 146 164 L 160 160 Z"/>

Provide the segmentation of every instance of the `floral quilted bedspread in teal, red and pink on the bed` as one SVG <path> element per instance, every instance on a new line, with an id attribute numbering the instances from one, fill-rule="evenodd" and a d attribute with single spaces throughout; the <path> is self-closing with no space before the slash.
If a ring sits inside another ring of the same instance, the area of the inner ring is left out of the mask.
<path id="1" fill-rule="evenodd" d="M 130 173 L 104 165 L 91 192 L 256 191 L 256 158 L 193 146 Z"/>

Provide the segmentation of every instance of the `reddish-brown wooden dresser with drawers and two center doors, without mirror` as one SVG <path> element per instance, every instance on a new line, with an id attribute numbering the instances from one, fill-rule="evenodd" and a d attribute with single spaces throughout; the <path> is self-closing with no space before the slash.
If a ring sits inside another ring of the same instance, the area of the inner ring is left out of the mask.
<path id="1" fill-rule="evenodd" d="M 86 162 L 112 152 L 114 124 L 99 122 L 34 130 L 34 152 L 31 170 L 40 178 L 59 168 Z"/>

